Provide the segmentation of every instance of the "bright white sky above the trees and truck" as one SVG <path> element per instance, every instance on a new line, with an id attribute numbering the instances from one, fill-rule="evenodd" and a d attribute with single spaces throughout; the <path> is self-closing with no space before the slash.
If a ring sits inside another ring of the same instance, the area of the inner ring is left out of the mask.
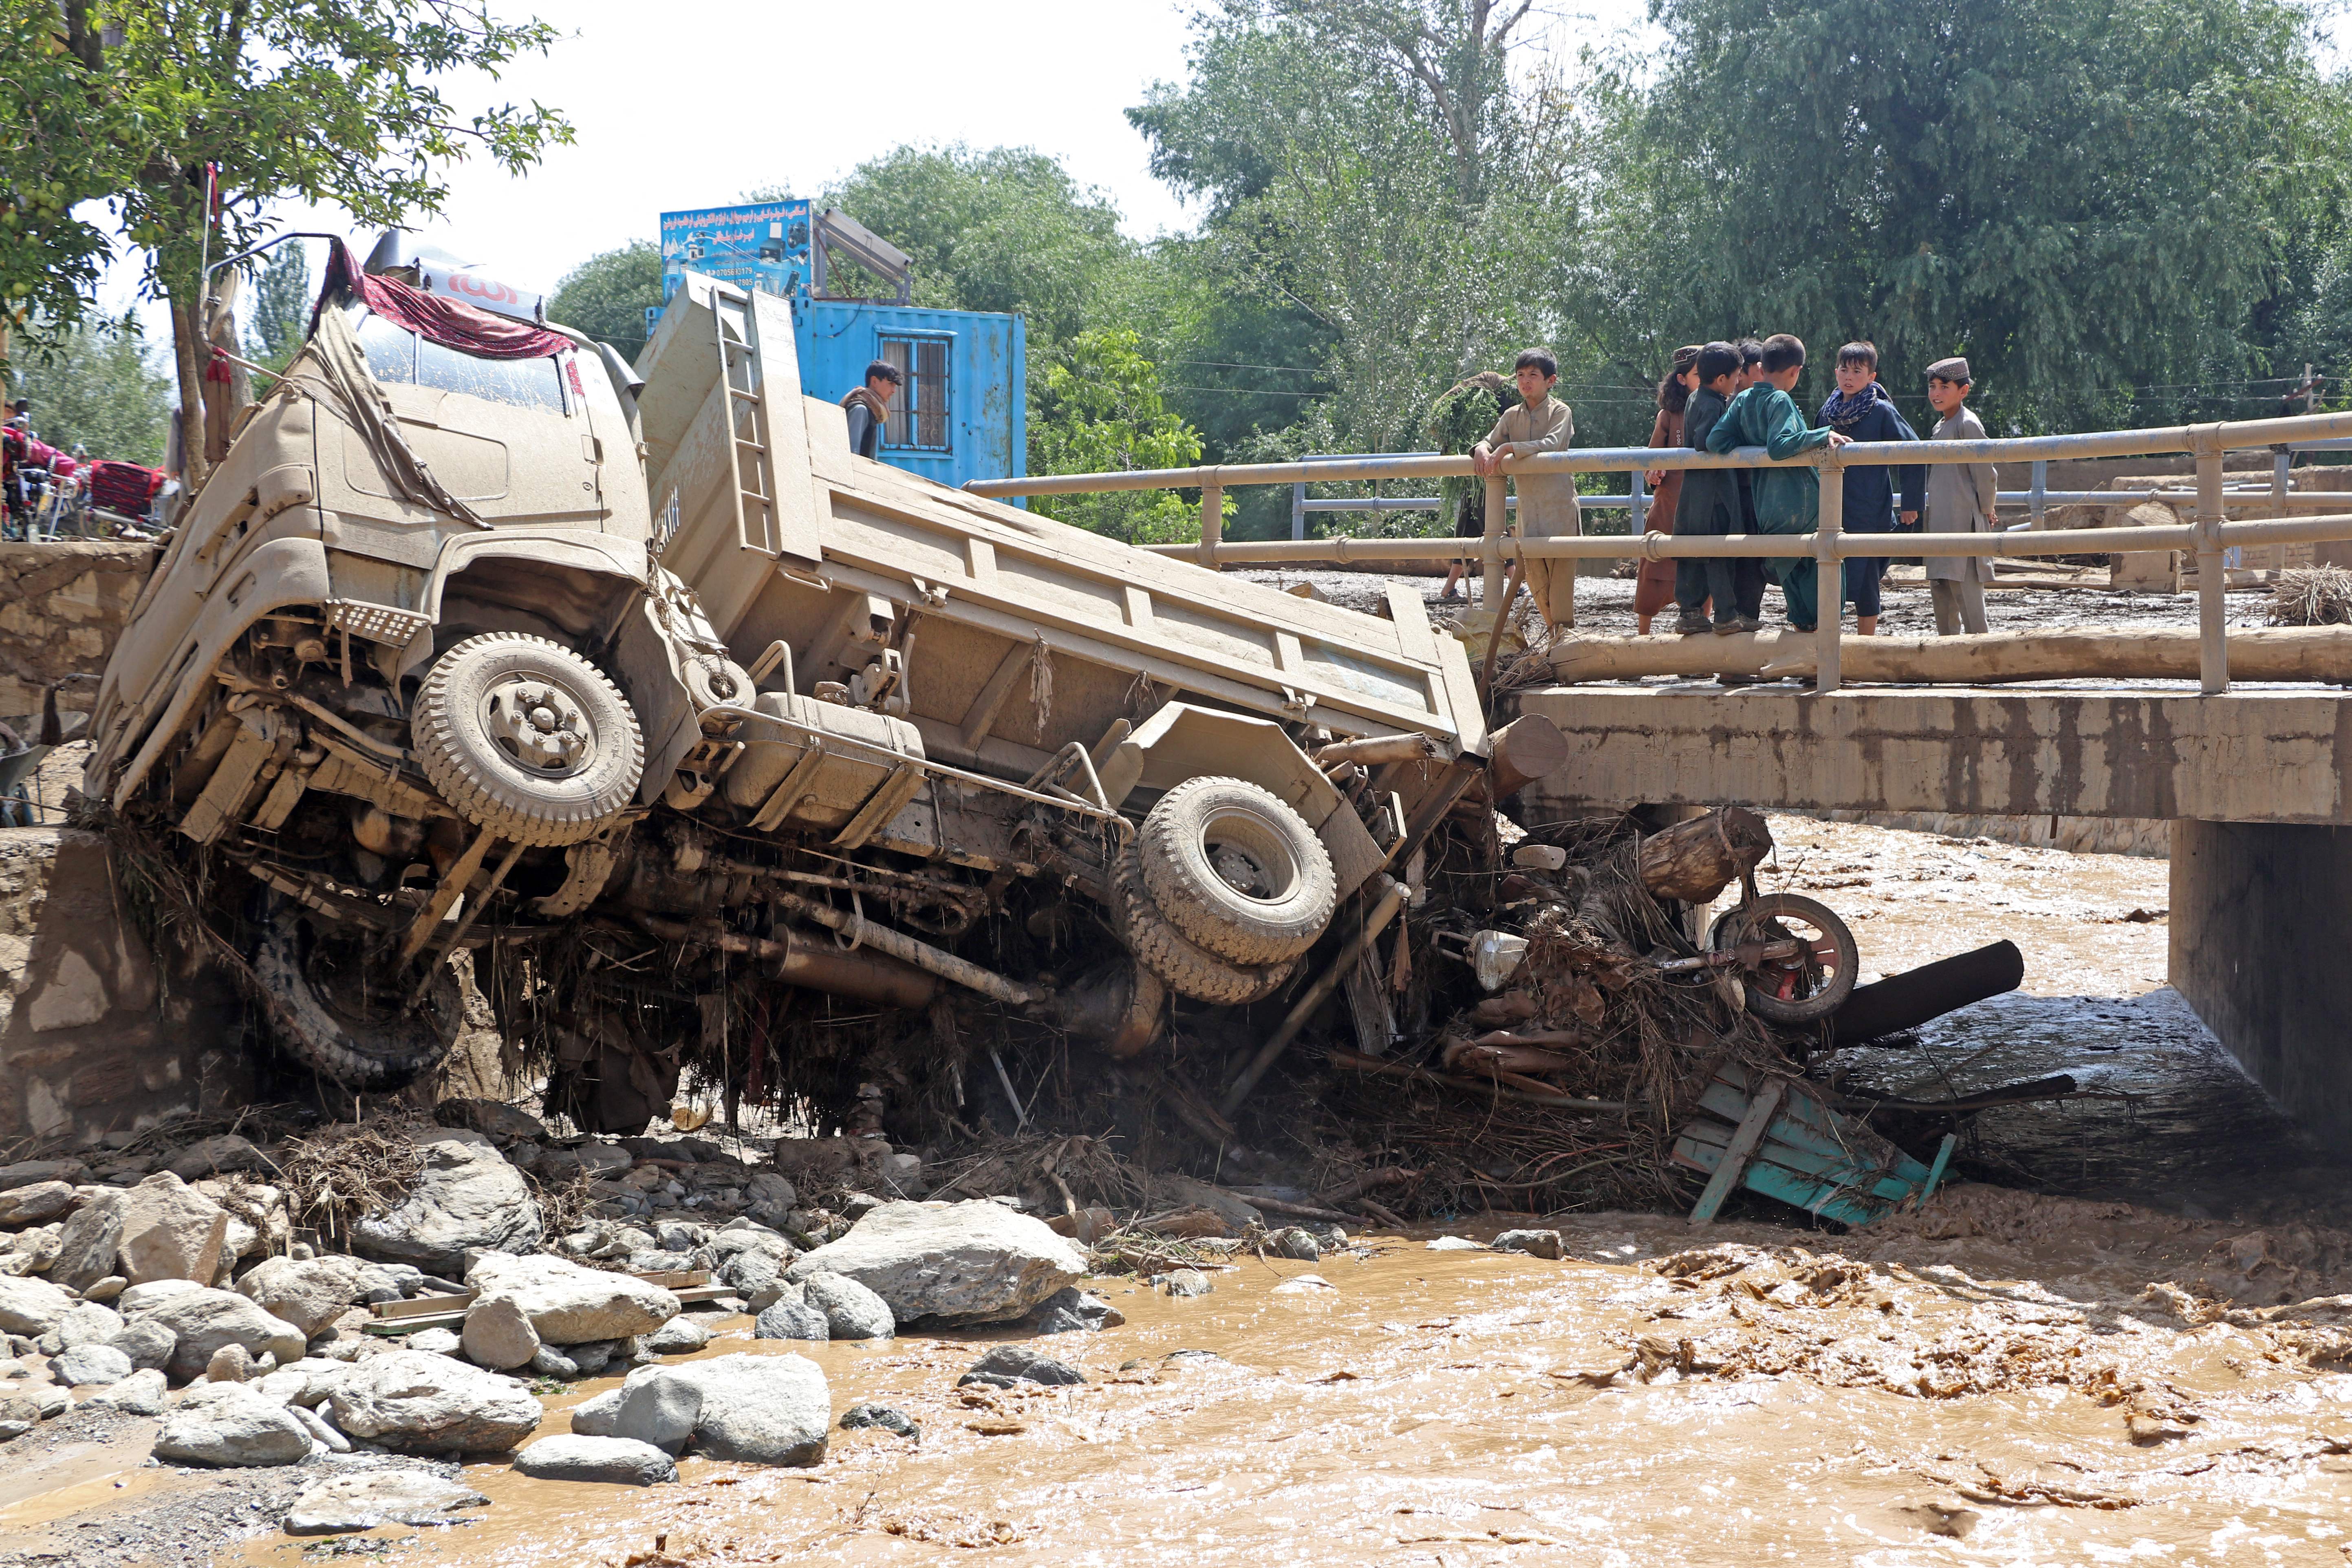
<path id="1" fill-rule="evenodd" d="M 1124 110 L 1155 80 L 1183 80 L 1190 0 L 503 0 L 567 38 L 503 80 L 452 78 L 473 110 L 532 99 L 560 108 L 574 146 L 510 179 L 468 160 L 426 235 L 524 289 L 553 289 L 588 256 L 652 240 L 656 214 L 731 202 L 757 186 L 816 195 L 854 165 L 915 141 L 1033 146 L 1098 186 L 1134 237 L 1190 228 L 1150 176 Z M 1644 0 L 1557 0 L 1548 33 L 1573 47 L 1637 24 Z M 278 214 L 287 228 L 374 235 L 341 214 Z M 318 256 L 313 256 L 313 270 Z M 132 303 L 115 266 L 103 303 Z M 160 320 L 148 322 L 155 334 Z"/>

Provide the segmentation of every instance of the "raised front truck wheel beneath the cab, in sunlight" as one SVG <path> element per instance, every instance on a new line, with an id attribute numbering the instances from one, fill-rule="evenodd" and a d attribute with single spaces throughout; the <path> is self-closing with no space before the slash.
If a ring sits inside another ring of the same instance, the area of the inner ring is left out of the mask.
<path id="1" fill-rule="evenodd" d="M 442 799 L 513 844 L 586 839 L 644 776 L 628 698 L 572 649 L 524 632 L 468 637 L 433 661 L 409 731 Z"/>

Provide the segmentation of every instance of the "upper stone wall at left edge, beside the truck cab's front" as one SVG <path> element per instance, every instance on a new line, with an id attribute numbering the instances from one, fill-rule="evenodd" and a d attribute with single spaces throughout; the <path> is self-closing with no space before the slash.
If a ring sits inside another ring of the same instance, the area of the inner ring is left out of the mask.
<path id="1" fill-rule="evenodd" d="M 158 545 L 120 541 L 0 545 L 0 719 L 38 715 L 42 686 L 106 668 L 155 559 Z M 66 686 L 59 705 L 87 712 L 94 696 Z"/>

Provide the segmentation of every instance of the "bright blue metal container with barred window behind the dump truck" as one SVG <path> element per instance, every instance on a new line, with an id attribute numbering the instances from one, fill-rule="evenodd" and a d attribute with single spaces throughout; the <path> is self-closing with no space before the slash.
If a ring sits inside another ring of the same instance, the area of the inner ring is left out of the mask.
<path id="1" fill-rule="evenodd" d="M 661 214 L 661 299 L 687 270 L 793 301 L 800 388 L 840 402 L 866 367 L 898 367 L 882 461 L 941 484 L 1028 473 L 1028 329 L 1018 315 L 835 299 L 818 289 L 809 202 Z M 661 310 L 647 310 L 647 336 Z"/>

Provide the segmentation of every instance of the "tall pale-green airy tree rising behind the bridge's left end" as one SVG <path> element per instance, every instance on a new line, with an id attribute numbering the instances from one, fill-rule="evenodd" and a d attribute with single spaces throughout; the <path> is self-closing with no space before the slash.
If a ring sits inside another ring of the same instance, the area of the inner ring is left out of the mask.
<path id="1" fill-rule="evenodd" d="M 1526 14 L 1225 0 L 1190 82 L 1129 110 L 1152 172 L 1207 200 L 1225 287 L 1322 329 L 1324 418 L 1348 444 L 1416 440 L 1435 393 L 1550 336 L 1555 94 L 1512 87 Z"/>

